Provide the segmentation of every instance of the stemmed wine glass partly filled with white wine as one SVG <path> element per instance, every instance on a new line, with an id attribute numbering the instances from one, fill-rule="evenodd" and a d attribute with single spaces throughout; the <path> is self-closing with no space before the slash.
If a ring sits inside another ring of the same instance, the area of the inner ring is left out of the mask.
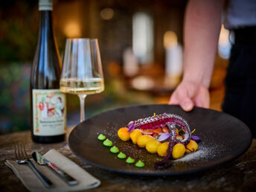
<path id="1" fill-rule="evenodd" d="M 80 98 L 80 122 L 86 119 L 86 96 L 103 90 L 103 71 L 97 39 L 67 39 L 60 91 L 78 95 Z"/>

